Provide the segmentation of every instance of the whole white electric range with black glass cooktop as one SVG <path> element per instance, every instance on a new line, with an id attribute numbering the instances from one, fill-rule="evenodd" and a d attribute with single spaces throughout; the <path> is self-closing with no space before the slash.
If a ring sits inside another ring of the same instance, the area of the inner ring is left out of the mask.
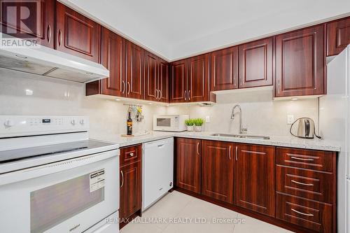
<path id="1" fill-rule="evenodd" d="M 0 232 L 119 232 L 119 146 L 89 119 L 0 116 Z"/>

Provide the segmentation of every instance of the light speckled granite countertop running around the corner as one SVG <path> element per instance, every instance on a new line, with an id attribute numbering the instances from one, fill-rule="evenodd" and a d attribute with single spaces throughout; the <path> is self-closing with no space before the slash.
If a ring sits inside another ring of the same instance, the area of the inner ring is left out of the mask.
<path id="1" fill-rule="evenodd" d="M 313 150 L 340 151 L 339 143 L 336 141 L 327 141 L 322 139 L 298 139 L 294 136 L 269 136 L 270 139 L 244 139 L 228 136 L 212 136 L 217 132 L 150 132 L 142 136 L 132 138 L 122 137 L 120 134 L 109 134 L 94 136 L 92 139 L 110 141 L 119 144 L 120 147 L 131 146 L 148 141 L 167 139 L 169 137 L 184 137 L 190 139 L 207 139 L 214 141 L 228 141 L 237 143 L 251 143 L 266 146 L 283 146 L 289 148 L 304 148 Z M 227 134 L 227 133 L 225 133 Z"/>

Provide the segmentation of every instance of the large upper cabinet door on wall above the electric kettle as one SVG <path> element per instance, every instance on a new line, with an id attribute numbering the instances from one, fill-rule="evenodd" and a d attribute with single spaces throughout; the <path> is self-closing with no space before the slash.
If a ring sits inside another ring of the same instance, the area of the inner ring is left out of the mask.
<path id="1" fill-rule="evenodd" d="M 323 24 L 276 36 L 276 97 L 325 94 Z"/>

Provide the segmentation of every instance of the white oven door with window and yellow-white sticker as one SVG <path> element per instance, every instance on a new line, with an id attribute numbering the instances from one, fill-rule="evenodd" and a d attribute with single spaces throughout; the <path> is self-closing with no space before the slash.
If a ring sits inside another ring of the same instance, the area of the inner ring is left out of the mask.
<path id="1" fill-rule="evenodd" d="M 119 209 L 119 150 L 0 175 L 0 232 L 83 232 Z"/>

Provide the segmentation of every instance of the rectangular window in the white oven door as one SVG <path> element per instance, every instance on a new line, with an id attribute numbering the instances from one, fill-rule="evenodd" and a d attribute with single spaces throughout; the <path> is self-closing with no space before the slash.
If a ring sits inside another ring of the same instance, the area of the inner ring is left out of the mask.
<path id="1" fill-rule="evenodd" d="M 44 232 L 104 201 L 104 179 L 96 187 L 91 183 L 90 175 L 31 192 L 30 232 Z"/>

